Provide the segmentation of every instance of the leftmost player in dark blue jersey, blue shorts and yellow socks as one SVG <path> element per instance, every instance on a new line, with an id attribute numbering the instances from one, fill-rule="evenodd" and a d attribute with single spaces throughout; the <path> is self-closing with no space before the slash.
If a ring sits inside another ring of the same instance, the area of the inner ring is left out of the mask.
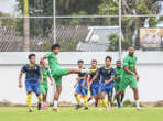
<path id="1" fill-rule="evenodd" d="M 43 84 L 43 75 L 40 66 L 35 64 L 35 54 L 30 54 L 29 61 L 30 63 L 22 67 L 21 73 L 19 75 L 19 87 L 22 88 L 23 86 L 22 76 L 23 74 L 25 74 L 25 87 L 28 92 L 26 102 L 28 102 L 29 112 L 32 112 L 32 107 L 31 107 L 32 92 L 35 92 L 35 95 L 39 98 L 37 110 L 41 110 L 42 107 L 42 96 L 40 92 L 39 78 L 41 77 L 41 84 Z"/>

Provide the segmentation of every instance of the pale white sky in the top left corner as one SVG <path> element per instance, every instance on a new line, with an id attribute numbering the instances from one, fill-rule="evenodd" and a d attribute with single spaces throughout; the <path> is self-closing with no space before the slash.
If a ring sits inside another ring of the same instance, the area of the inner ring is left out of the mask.
<path id="1" fill-rule="evenodd" d="M 4 13 L 14 14 L 15 12 L 15 0 L 0 0 L 0 11 Z"/>

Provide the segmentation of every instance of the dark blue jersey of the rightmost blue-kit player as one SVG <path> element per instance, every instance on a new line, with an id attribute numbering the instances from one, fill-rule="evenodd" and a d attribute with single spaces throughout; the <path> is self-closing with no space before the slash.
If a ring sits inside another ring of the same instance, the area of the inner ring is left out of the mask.
<path id="1" fill-rule="evenodd" d="M 111 77 L 115 77 L 115 69 L 112 67 L 106 68 L 100 67 L 98 74 L 101 77 L 101 82 L 104 84 L 105 81 L 109 80 Z M 108 84 L 109 85 L 109 84 Z"/>

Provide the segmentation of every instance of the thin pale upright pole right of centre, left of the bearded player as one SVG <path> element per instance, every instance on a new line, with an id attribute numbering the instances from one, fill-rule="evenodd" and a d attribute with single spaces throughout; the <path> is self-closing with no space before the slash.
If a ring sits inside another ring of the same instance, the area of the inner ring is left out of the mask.
<path id="1" fill-rule="evenodd" d="M 121 0 L 119 0 L 119 59 L 121 61 L 121 54 L 122 54 L 122 31 L 121 31 Z"/>

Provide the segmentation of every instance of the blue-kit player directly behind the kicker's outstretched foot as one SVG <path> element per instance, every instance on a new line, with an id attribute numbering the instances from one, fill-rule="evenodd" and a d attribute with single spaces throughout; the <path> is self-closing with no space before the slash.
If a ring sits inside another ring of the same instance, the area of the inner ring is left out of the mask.
<path id="1" fill-rule="evenodd" d="M 84 62 L 83 61 L 78 61 L 78 67 L 80 69 L 83 69 L 84 67 Z M 82 108 L 82 103 L 80 103 L 80 98 L 79 95 L 82 96 L 82 98 L 84 99 L 84 103 L 85 103 L 85 110 L 88 110 L 88 81 L 87 81 L 87 74 L 86 73 L 80 73 L 78 74 L 78 77 L 76 78 L 76 82 L 74 86 L 75 89 L 75 99 L 77 101 L 77 106 L 76 109 Z"/>

